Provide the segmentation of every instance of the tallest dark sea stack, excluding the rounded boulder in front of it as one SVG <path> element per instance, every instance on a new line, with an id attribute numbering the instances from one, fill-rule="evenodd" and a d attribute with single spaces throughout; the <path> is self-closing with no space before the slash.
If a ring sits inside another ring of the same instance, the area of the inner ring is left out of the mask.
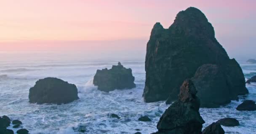
<path id="1" fill-rule="evenodd" d="M 179 86 L 203 64 L 221 67 L 235 95 L 248 93 L 240 65 L 229 59 L 200 10 L 191 7 L 179 12 L 168 29 L 156 23 L 147 43 L 145 102 L 165 101 L 168 96 L 177 100 Z"/>

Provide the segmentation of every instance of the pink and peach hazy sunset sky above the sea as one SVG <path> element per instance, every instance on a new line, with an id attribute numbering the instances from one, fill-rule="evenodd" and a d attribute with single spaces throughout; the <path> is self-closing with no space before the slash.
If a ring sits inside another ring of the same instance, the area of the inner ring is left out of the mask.
<path id="1" fill-rule="evenodd" d="M 145 51 L 153 25 L 190 6 L 231 56 L 256 58 L 256 0 L 0 0 L 0 51 Z"/>

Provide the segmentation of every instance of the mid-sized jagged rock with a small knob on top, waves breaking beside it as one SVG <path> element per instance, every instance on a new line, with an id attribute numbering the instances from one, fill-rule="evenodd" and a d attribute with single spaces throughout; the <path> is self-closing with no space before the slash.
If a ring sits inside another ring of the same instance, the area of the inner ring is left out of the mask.
<path id="1" fill-rule="evenodd" d="M 131 89 L 135 88 L 134 77 L 131 68 L 126 69 L 118 62 L 111 69 L 97 70 L 93 84 L 98 86 L 98 90 L 109 92 L 115 89 Z"/>

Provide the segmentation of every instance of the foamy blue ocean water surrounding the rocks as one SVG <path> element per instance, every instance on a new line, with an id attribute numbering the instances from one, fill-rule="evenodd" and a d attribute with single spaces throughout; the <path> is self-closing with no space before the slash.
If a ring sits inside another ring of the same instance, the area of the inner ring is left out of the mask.
<path id="1" fill-rule="evenodd" d="M 133 70 L 136 88 L 114 90 L 104 93 L 92 83 L 97 69 L 111 68 L 120 61 Z M 238 61 L 245 79 L 256 75 L 256 64 Z M 31 104 L 29 88 L 38 79 L 58 77 L 77 85 L 79 100 L 72 103 Z M 177 76 L 178 77 L 178 76 Z M 64 57 L 48 53 L 0 52 L 0 116 L 19 119 L 30 134 L 79 134 L 73 128 L 85 126 L 87 134 L 133 134 L 140 129 L 142 134 L 157 131 L 156 125 L 168 105 L 164 101 L 144 103 L 142 93 L 145 82 L 144 59 L 90 59 Z M 249 94 L 240 96 L 220 108 L 200 108 L 208 126 L 224 117 L 233 117 L 240 126 L 224 127 L 226 134 L 256 134 L 256 111 L 237 111 L 237 105 L 245 99 L 256 101 L 256 83 L 246 85 Z M 121 119 L 113 119 L 115 113 Z M 147 115 L 152 121 L 141 122 L 138 118 Z M 9 127 L 13 129 L 11 126 Z M 13 129 L 16 131 L 17 129 Z"/>

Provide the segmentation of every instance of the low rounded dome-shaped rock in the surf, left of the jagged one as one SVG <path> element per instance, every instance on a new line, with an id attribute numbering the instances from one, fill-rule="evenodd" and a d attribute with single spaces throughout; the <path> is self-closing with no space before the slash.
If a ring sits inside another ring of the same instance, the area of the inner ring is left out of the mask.
<path id="1" fill-rule="evenodd" d="M 58 78 L 40 79 L 29 89 L 30 103 L 70 103 L 79 99 L 77 87 Z"/>

